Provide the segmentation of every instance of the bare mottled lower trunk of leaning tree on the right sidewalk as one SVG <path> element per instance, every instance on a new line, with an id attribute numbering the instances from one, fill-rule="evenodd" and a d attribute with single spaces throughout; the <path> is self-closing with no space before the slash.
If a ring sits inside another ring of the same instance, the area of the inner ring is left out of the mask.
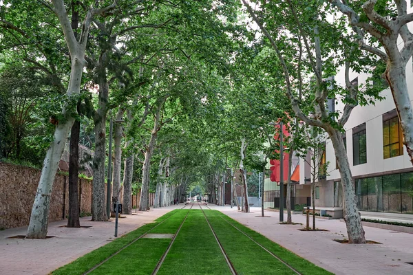
<path id="1" fill-rule="evenodd" d="M 348 164 L 348 157 L 343 139 L 341 138 L 341 132 L 331 127 L 328 129 L 328 134 L 334 146 L 335 155 L 339 164 L 341 182 L 343 184 L 345 199 L 344 220 L 346 221 L 348 241 L 349 243 L 366 243 L 359 209 L 357 208 L 350 164 Z"/>

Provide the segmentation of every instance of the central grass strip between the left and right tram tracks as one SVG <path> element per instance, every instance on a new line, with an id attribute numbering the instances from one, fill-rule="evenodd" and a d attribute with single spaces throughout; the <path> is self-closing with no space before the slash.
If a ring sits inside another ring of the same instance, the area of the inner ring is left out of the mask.
<path id="1" fill-rule="evenodd" d="M 231 274 L 201 210 L 189 212 L 158 274 Z"/>

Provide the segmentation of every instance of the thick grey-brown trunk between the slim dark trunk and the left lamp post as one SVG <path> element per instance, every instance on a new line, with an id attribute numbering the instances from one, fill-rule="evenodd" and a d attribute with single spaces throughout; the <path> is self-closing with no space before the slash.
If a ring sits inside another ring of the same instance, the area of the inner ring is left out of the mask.
<path id="1" fill-rule="evenodd" d="M 103 54 L 105 55 L 105 54 Z M 107 221 L 105 201 L 106 113 L 109 85 L 105 72 L 99 77 L 99 108 L 94 117 L 92 221 Z M 110 137 L 112 138 L 112 137 Z M 112 157 L 112 155 L 109 155 Z M 109 201 L 107 203 L 110 203 Z"/>

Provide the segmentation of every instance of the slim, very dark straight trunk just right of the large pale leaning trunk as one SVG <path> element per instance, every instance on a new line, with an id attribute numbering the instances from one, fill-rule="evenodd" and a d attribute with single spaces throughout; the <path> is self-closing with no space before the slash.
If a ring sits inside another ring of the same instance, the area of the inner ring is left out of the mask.
<path id="1" fill-rule="evenodd" d="M 68 228 L 80 228 L 79 221 L 79 135 L 81 133 L 81 122 L 76 120 L 70 134 L 70 157 L 69 157 L 69 217 Z"/>

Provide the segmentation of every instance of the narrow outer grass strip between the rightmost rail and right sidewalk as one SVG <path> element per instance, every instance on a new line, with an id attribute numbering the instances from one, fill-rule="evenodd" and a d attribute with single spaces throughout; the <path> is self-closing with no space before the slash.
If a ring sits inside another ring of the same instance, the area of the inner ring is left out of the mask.
<path id="1" fill-rule="evenodd" d="M 331 272 L 328 272 L 327 270 L 324 270 L 323 268 L 321 268 L 321 267 L 319 267 L 319 266 L 317 266 L 313 263 L 310 263 L 306 259 L 301 258 L 297 254 L 294 254 L 293 252 L 290 252 L 290 250 L 287 250 L 286 248 L 283 248 L 281 245 L 279 245 L 277 243 L 274 243 L 273 241 L 271 241 L 270 239 L 267 239 L 262 234 L 260 234 L 258 232 L 255 232 L 254 230 L 251 230 L 250 228 L 247 228 L 246 226 L 242 225 L 241 223 L 238 223 L 234 219 L 231 219 L 230 217 L 226 216 L 225 214 L 222 214 L 221 212 L 219 212 L 217 210 L 214 210 L 214 212 L 215 212 L 214 213 L 215 217 L 219 217 L 219 219 L 221 219 L 221 217 L 222 217 L 226 221 L 229 221 L 229 223 L 231 223 L 232 225 L 235 225 L 236 228 L 242 230 L 242 232 L 244 232 L 248 236 L 250 236 L 251 239 L 253 239 L 257 243 L 260 243 L 260 245 L 264 246 L 264 248 L 266 248 L 267 250 L 273 252 L 273 254 L 275 254 L 279 257 L 279 259 L 282 259 L 283 261 L 288 263 L 288 265 L 295 268 L 295 270 L 297 270 L 301 274 L 306 274 L 306 275 L 332 274 Z M 229 226 L 231 226 L 231 225 L 229 225 Z M 234 230 L 235 230 L 235 228 L 234 228 Z M 264 250 L 262 250 L 262 251 L 264 251 Z M 267 253 L 267 252 L 265 252 L 265 253 Z"/>

